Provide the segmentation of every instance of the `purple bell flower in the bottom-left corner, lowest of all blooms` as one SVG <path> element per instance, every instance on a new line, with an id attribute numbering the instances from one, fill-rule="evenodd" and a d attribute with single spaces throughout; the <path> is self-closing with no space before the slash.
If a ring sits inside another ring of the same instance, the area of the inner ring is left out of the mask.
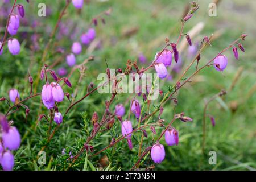
<path id="1" fill-rule="evenodd" d="M 10 151 L 6 151 L 0 155 L 0 163 L 3 171 L 12 171 L 14 167 L 14 156 Z"/>

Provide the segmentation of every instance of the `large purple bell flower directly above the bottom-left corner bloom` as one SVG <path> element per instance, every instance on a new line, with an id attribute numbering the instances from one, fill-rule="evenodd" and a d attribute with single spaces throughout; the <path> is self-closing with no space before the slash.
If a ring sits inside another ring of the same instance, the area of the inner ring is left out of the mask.
<path id="1" fill-rule="evenodd" d="M 3 145 L 9 150 L 18 150 L 20 146 L 20 134 L 16 127 L 12 126 L 8 132 L 2 133 Z"/>

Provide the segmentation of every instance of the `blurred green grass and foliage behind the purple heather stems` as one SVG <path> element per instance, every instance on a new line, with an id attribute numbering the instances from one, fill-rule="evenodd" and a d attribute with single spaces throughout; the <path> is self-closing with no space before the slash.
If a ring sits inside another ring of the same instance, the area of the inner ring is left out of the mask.
<path id="1" fill-rule="evenodd" d="M 28 24 L 31 26 L 33 20 L 37 20 L 40 26 L 36 30 L 32 30 L 30 26 L 22 27 L 28 32 L 27 38 L 23 39 L 22 51 L 18 56 L 11 56 L 5 48 L 5 55 L 0 57 L 0 96 L 7 97 L 7 92 L 10 88 L 19 88 L 20 97 L 28 96 L 29 88 L 27 82 L 28 69 L 31 75 L 35 78 L 36 73 L 42 65 L 40 59 L 49 32 L 56 23 L 60 10 L 63 9 L 65 1 L 59 3 L 45 1 L 47 8 L 51 9 L 51 14 L 45 18 L 37 16 L 37 5 L 39 1 L 31 2 L 27 5 L 26 16 L 28 16 Z M 164 47 L 164 39 L 169 38 L 170 42 L 176 42 L 177 35 L 180 29 L 180 19 L 184 14 L 185 7 L 190 1 L 180 0 L 129 0 L 129 1 L 86 1 L 84 9 L 78 13 L 71 5 L 67 10 L 67 15 L 63 18 L 63 27 L 69 26 L 68 22 L 73 21 L 77 26 L 73 34 L 73 40 L 63 36 L 61 39 L 56 38 L 56 44 L 53 47 L 64 48 L 65 53 L 68 53 L 72 45 L 71 41 L 79 40 L 81 32 L 86 31 L 91 19 L 97 14 L 112 8 L 112 14 L 106 17 L 106 24 L 98 23 L 96 27 L 97 41 L 101 42 L 100 49 L 89 47 L 84 48 L 81 55 L 77 57 L 77 63 L 82 63 L 86 57 L 95 56 L 95 60 L 86 64 L 88 70 L 86 76 L 80 84 L 79 94 L 77 98 L 84 96 L 86 88 L 90 82 L 97 84 L 97 75 L 105 72 L 108 62 L 110 68 L 125 68 L 126 61 L 137 60 L 139 53 L 143 53 L 147 57 L 147 63 L 138 63 L 139 66 L 147 67 L 154 59 L 155 53 Z M 193 122 L 183 123 L 175 122 L 174 127 L 179 130 L 180 143 L 179 146 L 166 148 L 166 159 L 161 164 L 155 164 L 155 169 L 158 170 L 248 170 L 256 168 L 256 2 L 255 1 L 218 1 L 217 16 L 210 17 L 208 15 L 209 3 L 212 1 L 196 1 L 199 3 L 199 10 L 185 24 L 184 32 L 188 32 L 201 22 L 203 28 L 198 34 L 192 38 L 192 42 L 200 42 L 204 36 L 211 34 L 217 35 L 214 39 L 212 47 L 201 54 L 200 65 L 203 65 L 208 60 L 212 59 L 222 49 L 240 37 L 241 34 L 248 34 L 246 41 L 241 42 L 245 47 L 245 52 L 239 51 L 239 59 L 234 59 L 232 49 L 225 52 L 228 57 L 228 67 L 224 74 L 217 72 L 214 68 L 206 68 L 200 72 L 192 82 L 185 85 L 176 96 L 179 103 L 176 107 L 176 113 L 182 111 L 186 115 L 193 118 Z M 1 26 L 5 20 L 1 20 Z M 2 26 L 3 27 L 3 26 Z M 39 51 L 30 51 L 30 37 L 38 32 L 39 35 Z M 3 28 L 1 28 L 3 32 Z M 19 35 L 21 36 L 21 35 Z M 92 51 L 91 51 L 92 50 Z M 49 53 L 47 63 L 52 64 L 60 55 Z M 183 69 L 190 63 L 188 59 L 187 48 L 181 52 L 183 61 Z M 66 67 L 65 59 L 55 67 Z M 174 61 L 172 67 L 174 65 Z M 237 77 L 238 70 L 240 75 Z M 187 76 L 195 71 L 192 67 Z M 152 71 L 154 73 L 154 71 Z M 180 73 L 173 73 L 172 81 L 164 80 L 163 90 L 166 92 L 166 86 L 172 86 Z M 79 72 L 72 77 L 73 85 L 79 78 Z M 162 84 L 162 83 L 161 83 Z M 234 84 L 234 88 L 230 86 Z M 43 85 L 40 82 L 38 90 Z M 207 137 L 205 151 L 217 152 L 217 164 L 210 165 L 208 163 L 209 156 L 201 155 L 201 140 L 202 140 L 202 118 L 205 101 L 219 93 L 222 89 L 228 91 L 226 96 L 218 98 L 209 104 L 207 114 L 213 115 L 216 119 L 216 126 L 212 127 L 210 119 L 207 118 Z M 65 92 L 71 92 L 71 89 L 64 88 Z M 72 93 L 72 92 L 71 92 Z M 40 147 L 44 145 L 44 136 L 46 135 L 48 124 L 41 122 L 37 127 L 36 122 L 38 114 L 47 113 L 40 104 L 40 98 L 35 98 L 33 101 L 26 102 L 31 108 L 28 122 L 24 123 L 24 111 L 19 111 L 9 117 L 14 120 L 14 125 L 18 127 L 23 136 L 22 147 L 15 154 L 15 169 L 65 169 L 67 167 L 67 159 L 63 159 L 61 155 L 62 148 L 71 150 L 75 154 L 81 148 L 82 143 L 86 139 L 85 124 L 88 124 L 88 118 L 92 116 L 94 111 L 99 115 L 104 110 L 105 100 L 109 100 L 110 94 L 93 94 L 86 100 L 82 101 L 79 106 L 69 114 L 69 118 L 65 120 L 63 126 L 48 144 L 47 164 L 39 166 L 36 163 L 36 155 L 40 151 Z M 129 96 L 121 94 L 115 104 L 124 103 Z M 157 101 L 156 101 L 157 103 Z M 68 101 L 61 104 L 59 109 L 65 111 L 68 106 Z M 114 105 L 112 105 L 114 110 Z M 129 109 L 129 104 L 126 104 L 126 110 Z M 1 103 L 0 111 L 5 113 L 7 105 Z M 85 113 L 88 114 L 86 117 Z M 84 113 L 81 115 L 81 113 Z M 171 119 L 174 114 L 174 104 L 168 103 L 164 107 L 163 119 Z M 124 118 L 126 118 L 128 113 Z M 83 116 L 83 119 L 81 119 Z M 134 125 L 136 123 L 133 118 Z M 156 119 L 156 118 L 155 118 Z M 88 124 L 89 125 L 89 124 Z M 89 126 L 87 126 L 89 127 Z M 91 128 L 90 128 L 91 129 Z M 115 131 L 114 131 L 115 130 Z M 150 130 L 147 130 L 150 133 Z M 160 134 L 158 129 L 157 133 Z M 99 135 L 93 141 L 95 150 L 98 151 L 105 146 L 108 146 L 111 138 L 121 134 L 119 123 L 116 122 L 113 130 L 107 131 L 104 135 Z M 151 135 L 151 134 L 150 134 Z M 138 160 L 138 142 L 140 134 L 134 137 L 134 149 L 129 151 L 126 142 L 118 144 L 116 151 L 107 150 L 101 155 L 90 158 L 90 162 L 95 167 L 103 169 L 101 163 L 104 155 L 108 156 L 111 169 L 130 169 Z M 145 139 L 143 148 L 150 144 L 151 137 Z M 164 139 L 160 141 L 164 144 Z M 117 155 L 118 154 L 118 155 Z M 84 166 L 85 155 L 71 169 L 82 169 Z M 49 158 L 48 156 L 51 156 Z M 65 156 L 67 158 L 67 156 Z M 149 158 L 147 158 L 149 159 Z M 147 160 L 142 164 L 142 168 L 146 166 Z M 153 165 L 150 161 L 149 164 Z M 92 168 L 89 168 L 92 169 Z"/>

